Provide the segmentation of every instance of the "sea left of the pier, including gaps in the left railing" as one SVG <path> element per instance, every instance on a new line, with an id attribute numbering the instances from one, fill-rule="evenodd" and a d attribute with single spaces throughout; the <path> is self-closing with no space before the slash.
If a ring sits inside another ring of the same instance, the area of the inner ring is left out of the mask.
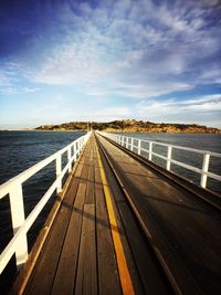
<path id="1" fill-rule="evenodd" d="M 85 133 L 75 131 L 0 131 L 0 185 L 19 175 L 34 164 L 62 149 Z M 66 155 L 62 159 L 63 167 Z M 46 166 L 23 185 L 25 217 L 35 207 L 46 189 L 55 179 L 54 162 Z M 28 233 L 29 249 L 31 249 L 39 230 L 54 203 L 56 196 L 52 196 L 35 223 Z M 10 204 L 8 196 L 0 200 L 0 252 L 12 238 Z M 14 257 L 0 275 L 0 293 L 8 292 L 8 287 L 15 275 Z"/>

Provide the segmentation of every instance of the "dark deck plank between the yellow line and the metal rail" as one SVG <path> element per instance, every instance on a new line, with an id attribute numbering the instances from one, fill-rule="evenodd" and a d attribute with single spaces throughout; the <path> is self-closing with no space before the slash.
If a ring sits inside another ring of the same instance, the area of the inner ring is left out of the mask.
<path id="1" fill-rule="evenodd" d="M 106 171 L 145 294 L 171 294 L 169 285 L 166 284 L 165 277 L 159 272 L 159 265 L 154 259 L 152 250 L 146 243 L 113 172 L 110 169 Z"/>

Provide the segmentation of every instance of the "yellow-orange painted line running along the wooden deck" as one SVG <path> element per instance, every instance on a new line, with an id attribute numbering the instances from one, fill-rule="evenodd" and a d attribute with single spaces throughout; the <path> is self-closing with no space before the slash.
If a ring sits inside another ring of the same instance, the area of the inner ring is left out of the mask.
<path id="1" fill-rule="evenodd" d="M 112 231 L 112 236 L 113 236 L 113 242 L 114 242 L 114 247 L 115 247 L 115 253 L 116 253 L 116 260 L 117 260 L 117 266 L 119 271 L 119 280 L 122 283 L 123 294 L 133 295 L 135 294 L 135 292 L 134 292 L 134 287 L 131 283 L 131 277 L 128 271 L 127 261 L 126 261 L 124 249 L 122 245 L 119 230 L 117 226 L 117 220 L 114 213 L 110 191 L 107 186 L 107 179 L 106 179 L 105 171 L 102 165 L 102 159 L 99 156 L 97 144 L 96 144 L 96 150 L 97 150 L 99 171 L 101 171 L 102 182 L 104 187 L 104 194 L 105 194 L 106 204 L 107 204 L 107 212 L 108 212 L 108 218 L 109 218 L 110 231 Z"/>

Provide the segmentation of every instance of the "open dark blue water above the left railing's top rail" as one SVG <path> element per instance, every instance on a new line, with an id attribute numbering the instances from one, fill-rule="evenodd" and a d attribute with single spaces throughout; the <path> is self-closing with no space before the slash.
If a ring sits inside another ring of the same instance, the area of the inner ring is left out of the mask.
<path id="1" fill-rule="evenodd" d="M 0 131 L 0 185 L 82 135 L 84 133 Z"/>

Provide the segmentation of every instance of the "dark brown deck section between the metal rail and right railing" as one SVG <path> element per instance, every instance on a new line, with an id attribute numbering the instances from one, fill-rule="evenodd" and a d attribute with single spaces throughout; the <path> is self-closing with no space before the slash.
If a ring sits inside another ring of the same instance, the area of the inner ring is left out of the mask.
<path id="1" fill-rule="evenodd" d="M 193 294 L 193 289 L 196 293 L 201 289 L 219 294 L 221 219 L 218 212 L 125 152 L 117 152 L 116 147 L 103 143 L 124 187 L 151 230 L 154 246 L 160 249 L 182 292 Z"/>

